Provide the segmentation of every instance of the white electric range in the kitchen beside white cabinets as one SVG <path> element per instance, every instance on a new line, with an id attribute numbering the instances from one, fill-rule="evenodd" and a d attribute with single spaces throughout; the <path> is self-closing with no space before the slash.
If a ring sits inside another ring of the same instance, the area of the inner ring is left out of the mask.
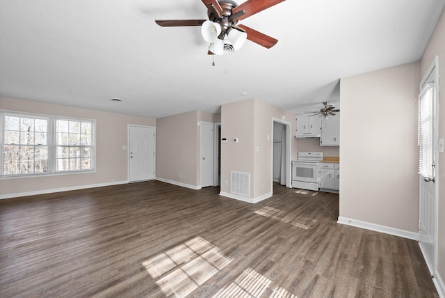
<path id="1" fill-rule="evenodd" d="M 292 187 L 318 191 L 318 162 L 323 152 L 298 152 L 298 159 L 292 162 Z"/>

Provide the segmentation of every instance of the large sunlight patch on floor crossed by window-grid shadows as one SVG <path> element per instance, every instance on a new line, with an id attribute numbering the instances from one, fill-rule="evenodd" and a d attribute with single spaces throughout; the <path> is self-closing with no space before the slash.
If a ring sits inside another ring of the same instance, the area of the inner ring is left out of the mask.
<path id="1" fill-rule="evenodd" d="M 232 262 L 218 247 L 195 237 L 142 263 L 153 279 L 158 279 L 165 295 L 185 297 Z"/>

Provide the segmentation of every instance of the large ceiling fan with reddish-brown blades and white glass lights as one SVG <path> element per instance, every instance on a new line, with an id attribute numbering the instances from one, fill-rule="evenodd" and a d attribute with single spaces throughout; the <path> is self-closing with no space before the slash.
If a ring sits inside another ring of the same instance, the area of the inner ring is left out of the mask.
<path id="1" fill-rule="evenodd" d="M 156 19 L 159 26 L 201 26 L 204 40 L 210 43 L 208 54 L 223 55 L 241 48 L 246 39 L 266 48 L 273 47 L 278 40 L 266 34 L 238 24 L 262 10 L 284 0 L 248 0 L 238 5 L 232 0 L 202 0 L 207 7 L 207 19 Z"/>

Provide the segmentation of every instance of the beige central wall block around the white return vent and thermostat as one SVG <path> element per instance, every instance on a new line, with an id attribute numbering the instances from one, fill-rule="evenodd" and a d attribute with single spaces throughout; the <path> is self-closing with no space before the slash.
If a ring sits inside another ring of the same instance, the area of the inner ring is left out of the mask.
<path id="1" fill-rule="evenodd" d="M 230 172 L 240 171 L 251 173 L 250 198 L 272 194 L 273 118 L 289 122 L 293 135 L 293 114 L 256 99 L 224 104 L 221 111 L 221 137 L 227 138 L 221 144 L 221 192 L 230 193 Z M 292 137 L 292 148 L 295 142 Z"/>

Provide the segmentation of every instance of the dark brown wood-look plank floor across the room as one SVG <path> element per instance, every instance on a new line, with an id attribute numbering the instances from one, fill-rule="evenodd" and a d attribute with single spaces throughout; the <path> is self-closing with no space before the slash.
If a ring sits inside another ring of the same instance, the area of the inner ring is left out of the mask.
<path id="1" fill-rule="evenodd" d="M 150 181 L 0 201 L 0 296 L 438 297 L 415 241 L 297 191 L 250 204 Z"/>

